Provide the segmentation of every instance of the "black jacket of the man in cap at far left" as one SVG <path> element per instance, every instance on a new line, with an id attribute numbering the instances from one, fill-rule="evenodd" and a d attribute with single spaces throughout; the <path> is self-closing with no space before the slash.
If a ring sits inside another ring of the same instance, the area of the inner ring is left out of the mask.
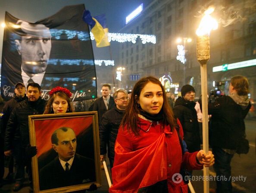
<path id="1" fill-rule="evenodd" d="M 5 133 L 7 122 L 9 120 L 9 117 L 11 115 L 12 109 L 21 101 L 25 100 L 27 96 L 24 97 L 18 97 L 13 96 L 12 99 L 8 100 L 5 105 L 3 106 L 3 116 L 2 116 L 2 124 L 3 124 L 3 134 Z"/>

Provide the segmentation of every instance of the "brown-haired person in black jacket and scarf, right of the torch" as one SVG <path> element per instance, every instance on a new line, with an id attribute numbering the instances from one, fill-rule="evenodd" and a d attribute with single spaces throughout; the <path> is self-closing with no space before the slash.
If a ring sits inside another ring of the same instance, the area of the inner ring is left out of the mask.
<path id="1" fill-rule="evenodd" d="M 209 141 L 215 156 L 213 166 L 216 176 L 231 176 L 231 159 L 236 153 L 242 137 L 245 137 L 244 118 L 251 104 L 248 98 L 249 83 L 244 76 L 234 76 L 229 85 L 229 95 L 220 96 L 208 104 L 210 121 Z M 231 193 L 230 180 L 216 181 L 217 193 Z"/>

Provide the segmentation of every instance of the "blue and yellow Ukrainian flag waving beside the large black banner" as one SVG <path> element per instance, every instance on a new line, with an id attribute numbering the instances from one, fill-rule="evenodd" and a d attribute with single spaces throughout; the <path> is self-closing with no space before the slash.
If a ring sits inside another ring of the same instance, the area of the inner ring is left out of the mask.
<path id="1" fill-rule="evenodd" d="M 91 32 L 94 34 L 97 47 L 110 46 L 110 43 L 108 41 L 109 29 L 106 25 L 105 14 L 92 17 L 89 10 L 84 10 L 83 20 L 85 23 L 90 25 Z"/>

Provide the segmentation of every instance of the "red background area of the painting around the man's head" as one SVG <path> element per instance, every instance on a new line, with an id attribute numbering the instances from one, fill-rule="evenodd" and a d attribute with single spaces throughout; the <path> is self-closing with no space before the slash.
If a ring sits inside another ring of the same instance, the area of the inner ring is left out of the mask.
<path id="1" fill-rule="evenodd" d="M 37 157 L 52 148 L 51 136 L 53 131 L 60 127 L 69 127 L 78 136 L 92 124 L 92 117 L 58 118 L 34 121 L 36 133 Z"/>

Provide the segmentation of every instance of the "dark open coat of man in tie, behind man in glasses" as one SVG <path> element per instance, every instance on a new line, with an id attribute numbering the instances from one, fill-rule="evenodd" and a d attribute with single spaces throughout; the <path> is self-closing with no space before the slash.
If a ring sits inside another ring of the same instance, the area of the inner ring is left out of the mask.
<path id="1" fill-rule="evenodd" d="M 115 106 L 114 98 L 112 96 L 110 96 L 108 110 L 114 108 L 114 106 Z M 99 119 L 99 123 L 100 123 L 102 115 L 105 112 L 107 112 L 106 105 L 105 105 L 105 103 L 103 101 L 103 97 L 102 96 L 100 98 L 98 98 L 97 100 L 95 100 L 93 111 L 97 111 L 98 112 L 98 119 Z"/>

